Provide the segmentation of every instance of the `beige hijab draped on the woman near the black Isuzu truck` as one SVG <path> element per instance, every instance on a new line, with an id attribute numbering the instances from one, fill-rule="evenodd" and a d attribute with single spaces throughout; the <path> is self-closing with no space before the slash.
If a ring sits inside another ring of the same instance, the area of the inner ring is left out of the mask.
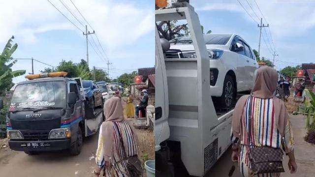
<path id="1" fill-rule="evenodd" d="M 110 161 L 113 147 L 113 121 L 124 120 L 122 102 L 119 97 L 111 97 L 104 103 L 105 121 L 102 123 L 103 152 L 105 161 Z"/>

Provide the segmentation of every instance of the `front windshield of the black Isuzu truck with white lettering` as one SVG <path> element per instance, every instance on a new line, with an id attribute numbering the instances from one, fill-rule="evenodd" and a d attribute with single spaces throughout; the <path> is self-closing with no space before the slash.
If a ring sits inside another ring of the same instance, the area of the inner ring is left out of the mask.
<path id="1" fill-rule="evenodd" d="M 36 82 L 18 85 L 12 95 L 9 111 L 21 108 L 65 108 L 65 83 L 63 81 Z"/>

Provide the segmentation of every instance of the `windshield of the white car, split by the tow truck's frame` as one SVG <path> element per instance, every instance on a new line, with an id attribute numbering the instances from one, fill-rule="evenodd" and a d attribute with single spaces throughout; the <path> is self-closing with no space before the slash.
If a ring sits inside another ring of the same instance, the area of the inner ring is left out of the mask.
<path id="1" fill-rule="evenodd" d="M 204 34 L 206 44 L 225 45 L 231 38 L 231 34 Z M 171 44 L 191 44 L 190 36 L 181 36 L 169 41 Z"/>

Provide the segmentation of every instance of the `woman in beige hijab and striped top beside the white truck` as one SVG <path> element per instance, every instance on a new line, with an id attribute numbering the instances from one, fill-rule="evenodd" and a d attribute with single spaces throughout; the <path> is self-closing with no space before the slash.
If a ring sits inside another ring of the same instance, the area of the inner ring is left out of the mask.
<path id="1" fill-rule="evenodd" d="M 255 85 L 251 95 L 242 96 L 234 109 L 232 118 L 233 135 L 238 143 L 233 144 L 232 161 L 238 161 L 243 177 L 252 177 L 249 168 L 249 150 L 251 147 L 281 148 L 289 156 L 288 166 L 295 173 L 297 165 L 294 158 L 294 140 L 291 123 L 284 102 L 273 93 L 277 88 L 278 73 L 269 66 L 260 67 L 257 71 Z M 252 100 L 250 100 L 252 99 Z M 252 103 L 251 127 L 249 127 L 250 101 Z M 249 132 L 251 131 L 251 141 Z M 236 141 L 235 141 L 236 142 Z M 254 177 L 280 177 L 280 173 L 258 174 Z"/>

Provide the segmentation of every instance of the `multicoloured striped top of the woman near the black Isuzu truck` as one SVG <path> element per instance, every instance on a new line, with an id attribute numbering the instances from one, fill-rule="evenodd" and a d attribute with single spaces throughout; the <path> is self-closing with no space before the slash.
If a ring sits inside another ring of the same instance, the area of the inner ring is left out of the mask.
<path id="1" fill-rule="evenodd" d="M 134 156 L 137 154 L 136 138 L 133 134 L 133 131 L 130 125 L 125 121 L 116 122 L 118 127 L 113 123 L 114 136 L 113 136 L 113 148 L 112 155 L 110 157 L 110 165 L 106 165 L 105 176 L 106 177 L 129 177 L 127 171 L 127 159 L 125 158 L 125 153 L 123 151 L 123 145 L 120 141 L 119 132 L 122 135 L 125 152 L 128 157 Z M 101 134 L 99 134 L 101 136 Z M 102 136 L 101 136 L 102 137 Z M 104 167 L 104 156 L 102 156 L 102 138 L 98 139 L 98 146 L 96 150 L 96 163 L 98 167 Z"/>

